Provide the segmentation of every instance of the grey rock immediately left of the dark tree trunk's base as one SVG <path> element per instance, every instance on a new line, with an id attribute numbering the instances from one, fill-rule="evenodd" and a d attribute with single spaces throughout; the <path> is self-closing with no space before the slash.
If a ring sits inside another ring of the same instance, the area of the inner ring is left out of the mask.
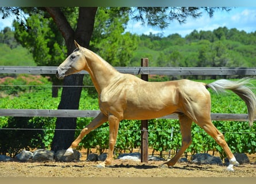
<path id="1" fill-rule="evenodd" d="M 33 152 L 33 161 L 35 162 L 47 162 L 54 161 L 54 151 L 49 151 L 45 149 L 39 149 Z"/>

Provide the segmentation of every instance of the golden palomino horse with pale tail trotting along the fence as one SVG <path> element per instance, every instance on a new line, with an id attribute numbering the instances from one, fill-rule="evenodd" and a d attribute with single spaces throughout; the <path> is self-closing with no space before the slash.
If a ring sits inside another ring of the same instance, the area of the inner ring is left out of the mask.
<path id="1" fill-rule="evenodd" d="M 109 152 L 106 160 L 101 163 L 101 166 L 105 167 L 113 158 L 121 120 L 146 120 L 177 113 L 182 145 L 177 154 L 165 163 L 167 166 L 173 166 L 191 144 L 192 121 L 204 129 L 224 149 L 230 160 L 228 170 L 233 170 L 233 166 L 239 164 L 223 134 L 212 124 L 211 96 L 207 88 L 210 87 L 215 91 L 231 90 L 239 95 L 247 105 L 249 122 L 253 125 L 256 98 L 253 91 L 244 86 L 248 83 L 248 79 L 238 82 L 221 79 L 209 84 L 189 80 L 146 82 L 134 75 L 121 74 L 94 52 L 81 47 L 76 41 L 75 45 L 77 49 L 60 64 L 56 76 L 62 79 L 81 70 L 89 72 L 98 92 L 101 113 L 82 129 L 64 155 L 71 155 L 85 135 L 108 121 Z"/>

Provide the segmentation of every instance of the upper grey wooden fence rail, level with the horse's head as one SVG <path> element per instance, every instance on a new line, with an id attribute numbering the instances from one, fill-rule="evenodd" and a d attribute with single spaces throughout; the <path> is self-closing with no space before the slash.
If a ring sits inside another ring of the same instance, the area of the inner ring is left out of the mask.
<path id="1" fill-rule="evenodd" d="M 57 67 L 0 66 L 0 74 L 55 74 Z M 125 74 L 147 75 L 256 75 L 256 68 L 245 67 L 115 67 Z M 86 71 L 77 74 L 88 74 Z"/>

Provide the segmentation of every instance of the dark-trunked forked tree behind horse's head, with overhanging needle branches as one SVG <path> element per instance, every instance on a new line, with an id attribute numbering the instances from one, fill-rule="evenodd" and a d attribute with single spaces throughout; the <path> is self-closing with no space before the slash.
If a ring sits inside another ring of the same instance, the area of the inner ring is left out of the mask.
<path id="1" fill-rule="evenodd" d="M 75 28 L 72 28 L 71 23 L 68 22 L 67 15 L 64 11 L 65 9 L 64 7 L 42 8 L 42 10 L 47 11 L 54 20 L 64 38 L 67 46 L 67 55 L 69 55 L 75 48 L 74 40 L 77 40 L 83 47 L 89 47 L 97 7 L 79 7 L 77 25 Z M 121 7 L 117 9 L 117 12 L 122 14 L 128 11 L 131 13 L 132 18 L 137 21 L 142 21 L 142 24 L 166 28 L 170 20 L 177 20 L 184 23 L 187 17 L 200 17 L 202 10 L 207 11 L 209 16 L 212 17 L 216 9 L 219 9 L 219 7 L 136 7 L 134 9 Z M 226 8 L 221 9 L 227 10 Z M 37 10 L 37 8 L 31 8 L 29 13 L 37 13 Z M 1 7 L 0 13 L 3 14 L 3 18 L 9 14 L 15 14 L 18 21 L 24 24 L 21 18 L 19 18 L 21 13 L 19 7 Z M 63 84 L 64 86 L 81 86 L 82 79 L 83 75 L 70 75 L 64 78 Z M 58 109 L 78 109 L 81 90 L 82 87 L 63 87 Z M 57 118 L 52 150 L 57 151 L 68 148 L 74 139 L 75 131 L 63 133 L 63 131 L 59 131 L 59 129 L 75 129 L 76 119 L 77 118 Z"/>

